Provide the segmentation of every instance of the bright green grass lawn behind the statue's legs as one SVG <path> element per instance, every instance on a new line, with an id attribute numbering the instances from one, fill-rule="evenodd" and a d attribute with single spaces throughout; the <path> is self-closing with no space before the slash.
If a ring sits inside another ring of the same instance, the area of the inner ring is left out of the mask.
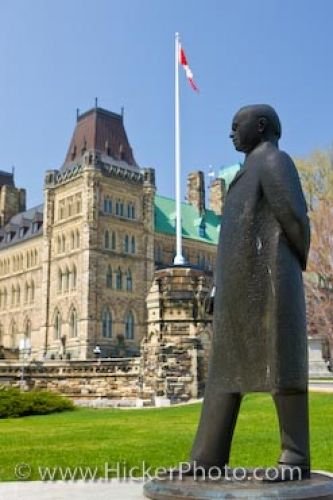
<path id="1" fill-rule="evenodd" d="M 311 394 L 312 467 L 333 471 L 333 394 Z M 15 465 L 38 467 L 153 467 L 188 459 L 200 405 L 145 410 L 93 410 L 0 420 L 0 480 L 16 480 Z M 279 454 L 275 409 L 266 394 L 247 396 L 241 408 L 231 465 L 273 465 Z"/>

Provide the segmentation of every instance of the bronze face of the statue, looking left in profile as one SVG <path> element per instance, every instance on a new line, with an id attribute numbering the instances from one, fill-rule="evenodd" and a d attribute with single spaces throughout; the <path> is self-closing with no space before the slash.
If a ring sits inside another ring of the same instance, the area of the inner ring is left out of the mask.
<path id="1" fill-rule="evenodd" d="M 249 153 L 262 139 L 259 118 L 251 110 L 239 111 L 232 121 L 230 138 L 237 151 Z"/>

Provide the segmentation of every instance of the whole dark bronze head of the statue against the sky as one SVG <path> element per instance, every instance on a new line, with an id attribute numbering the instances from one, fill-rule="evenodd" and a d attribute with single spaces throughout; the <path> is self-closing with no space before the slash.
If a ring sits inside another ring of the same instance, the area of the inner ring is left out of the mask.
<path id="1" fill-rule="evenodd" d="M 280 119 L 268 104 L 245 106 L 232 120 L 230 138 L 237 151 L 247 154 L 261 142 L 277 144 L 280 137 Z"/>

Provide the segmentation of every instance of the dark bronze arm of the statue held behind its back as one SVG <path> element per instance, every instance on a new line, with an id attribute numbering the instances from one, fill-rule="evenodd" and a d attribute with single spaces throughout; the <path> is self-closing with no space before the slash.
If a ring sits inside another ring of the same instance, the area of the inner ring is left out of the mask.
<path id="1" fill-rule="evenodd" d="M 260 169 L 260 180 L 264 196 L 305 270 L 310 247 L 310 224 L 301 182 L 292 159 L 279 150 L 270 154 Z"/>

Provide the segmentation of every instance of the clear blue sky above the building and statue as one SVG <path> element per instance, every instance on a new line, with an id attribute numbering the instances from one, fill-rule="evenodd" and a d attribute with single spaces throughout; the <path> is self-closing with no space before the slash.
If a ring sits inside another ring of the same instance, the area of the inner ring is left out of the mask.
<path id="1" fill-rule="evenodd" d="M 183 193 L 191 170 L 242 159 L 228 136 L 244 104 L 277 109 L 293 156 L 333 142 L 329 0 L 0 0 L 0 19 L 0 169 L 28 206 L 95 96 L 125 107 L 137 162 L 173 196 L 175 31 L 200 87 L 180 75 Z"/>

